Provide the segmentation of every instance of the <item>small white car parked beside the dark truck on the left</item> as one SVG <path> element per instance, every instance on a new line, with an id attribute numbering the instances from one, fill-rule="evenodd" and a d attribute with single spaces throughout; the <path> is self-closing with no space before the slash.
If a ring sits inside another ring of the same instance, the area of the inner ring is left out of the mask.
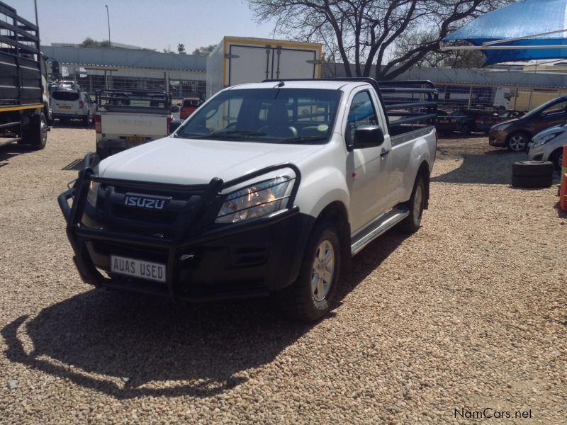
<path id="1" fill-rule="evenodd" d="M 85 91 L 56 90 L 51 94 L 52 118 L 60 121 L 82 120 L 89 125 L 96 105 Z"/>

